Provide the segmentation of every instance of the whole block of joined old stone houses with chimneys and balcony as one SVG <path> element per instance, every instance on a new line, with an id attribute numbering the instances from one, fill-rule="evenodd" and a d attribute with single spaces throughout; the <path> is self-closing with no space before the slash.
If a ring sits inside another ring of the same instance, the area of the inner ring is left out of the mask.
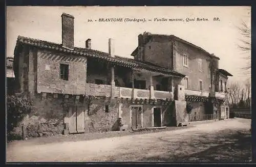
<path id="1" fill-rule="evenodd" d="M 175 36 L 148 33 L 139 35 L 135 59 L 115 55 L 113 39 L 109 53 L 91 49 L 91 39 L 78 48 L 74 17 L 61 17 L 62 44 L 17 38 L 14 73 L 17 91 L 37 108 L 31 124 L 55 120 L 55 127 L 44 130 L 56 133 L 179 126 L 190 119 L 187 102 L 195 115 L 213 115 L 214 105 L 224 102 L 216 81 L 229 74 L 205 50 Z"/>

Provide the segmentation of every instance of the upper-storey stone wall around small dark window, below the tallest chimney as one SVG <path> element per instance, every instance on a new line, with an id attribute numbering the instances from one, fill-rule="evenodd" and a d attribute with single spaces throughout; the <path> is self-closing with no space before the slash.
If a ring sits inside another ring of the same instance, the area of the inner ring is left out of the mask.
<path id="1" fill-rule="evenodd" d="M 32 60 L 30 60 L 30 63 Z M 37 92 L 84 94 L 87 59 L 73 55 L 37 51 Z M 60 64 L 69 65 L 68 80 L 60 79 Z"/>

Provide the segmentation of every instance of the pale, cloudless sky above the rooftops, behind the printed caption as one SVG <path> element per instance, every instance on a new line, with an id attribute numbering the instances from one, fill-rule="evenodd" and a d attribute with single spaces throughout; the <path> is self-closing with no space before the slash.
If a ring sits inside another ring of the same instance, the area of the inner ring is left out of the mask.
<path id="1" fill-rule="evenodd" d="M 238 26 L 251 22 L 250 7 L 18 7 L 6 9 L 6 52 L 13 57 L 17 36 L 61 43 L 61 14 L 74 19 L 74 46 L 85 47 L 92 40 L 92 49 L 108 52 L 108 39 L 114 39 L 115 54 L 132 58 L 138 46 L 138 35 L 175 35 L 220 58 L 219 68 L 230 72 L 229 80 L 245 80 L 241 68 L 243 57 L 250 53 L 238 49 L 241 36 Z M 208 21 L 154 21 L 155 18 L 207 18 Z M 220 21 L 213 21 L 214 17 Z M 99 22 L 100 18 L 152 19 L 146 22 Z M 93 20 L 92 22 L 88 20 Z"/>

